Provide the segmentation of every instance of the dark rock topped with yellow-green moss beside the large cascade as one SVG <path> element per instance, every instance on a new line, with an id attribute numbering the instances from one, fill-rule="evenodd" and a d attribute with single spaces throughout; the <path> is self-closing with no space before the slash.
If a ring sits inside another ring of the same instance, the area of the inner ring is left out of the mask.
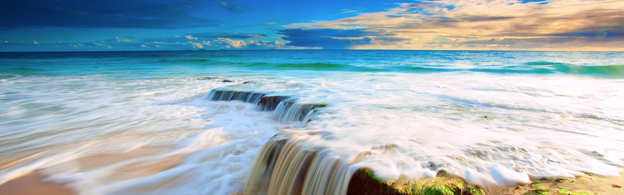
<path id="1" fill-rule="evenodd" d="M 483 195 L 479 186 L 467 184 L 452 176 L 414 181 L 405 178 L 383 180 L 373 171 L 361 169 L 353 175 L 347 189 L 348 195 Z"/>

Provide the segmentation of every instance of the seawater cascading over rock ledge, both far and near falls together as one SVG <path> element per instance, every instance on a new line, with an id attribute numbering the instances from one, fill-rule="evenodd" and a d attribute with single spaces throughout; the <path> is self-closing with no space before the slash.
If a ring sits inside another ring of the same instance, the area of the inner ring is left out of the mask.
<path id="1" fill-rule="evenodd" d="M 273 111 L 276 121 L 301 121 L 302 126 L 318 114 L 318 108 L 326 106 L 298 103 L 298 99 L 286 96 L 220 89 L 213 89 L 208 99 L 256 104 L 257 109 Z M 348 158 L 332 156 L 330 148 L 318 146 L 314 140 L 299 139 L 298 134 L 285 129 L 262 147 L 253 161 L 245 194 L 346 194 L 349 179 L 359 169 L 352 165 L 364 153 Z"/>

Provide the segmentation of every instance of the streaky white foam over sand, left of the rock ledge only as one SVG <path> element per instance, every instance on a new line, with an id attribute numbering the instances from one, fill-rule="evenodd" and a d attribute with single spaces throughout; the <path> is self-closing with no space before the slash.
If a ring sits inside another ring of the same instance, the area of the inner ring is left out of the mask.
<path id="1" fill-rule="evenodd" d="M 93 78 L 24 82 L 62 86 L 88 79 Z M 182 83 L 195 84 L 170 88 Z M 28 92 L 26 99 L 54 99 L 34 111 L 12 107 L 6 113 L 17 118 L 29 111 L 41 112 L 33 116 L 39 119 L 29 123 L 13 121 L 15 130 L 5 132 L 6 137 L 15 136 L 11 139 L 15 143 L 2 148 L 3 159 L 13 159 L 0 172 L 2 183 L 41 169 L 49 181 L 70 183 L 80 194 L 230 194 L 236 189 L 233 186 L 241 185 L 259 147 L 286 125 L 273 121 L 270 113 L 256 111 L 253 104 L 207 101 L 207 91 L 217 86 L 223 84 L 193 78 Z M 111 87 L 119 91 L 108 91 Z M 110 93 L 117 94 L 107 96 Z M 89 121 L 108 122 L 84 126 Z M 12 133 L 20 128 L 29 131 Z M 32 136 L 37 133 L 42 135 Z"/>

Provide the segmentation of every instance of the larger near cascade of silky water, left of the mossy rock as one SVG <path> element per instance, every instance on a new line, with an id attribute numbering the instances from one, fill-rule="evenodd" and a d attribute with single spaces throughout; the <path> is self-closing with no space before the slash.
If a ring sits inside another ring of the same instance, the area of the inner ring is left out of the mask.
<path id="1" fill-rule="evenodd" d="M 245 194 L 345 194 L 358 157 L 332 156 L 331 149 L 293 136 L 281 133 L 263 146 Z"/>

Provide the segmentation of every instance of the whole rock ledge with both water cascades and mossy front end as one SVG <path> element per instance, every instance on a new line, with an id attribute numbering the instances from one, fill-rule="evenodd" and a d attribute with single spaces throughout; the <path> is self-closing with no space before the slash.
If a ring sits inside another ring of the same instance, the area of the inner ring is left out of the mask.
<path id="1" fill-rule="evenodd" d="M 319 108 L 328 104 L 301 103 L 300 98 L 270 93 L 213 89 L 212 101 L 243 101 L 261 111 L 273 111 L 281 123 L 310 122 Z M 285 129 L 265 143 L 248 173 L 243 194 L 247 195 L 354 195 L 354 194 L 445 194 L 481 195 L 482 189 L 457 177 L 419 181 L 380 179 L 360 163 L 370 151 L 344 151 L 324 145 L 310 135 L 324 131 Z"/>

